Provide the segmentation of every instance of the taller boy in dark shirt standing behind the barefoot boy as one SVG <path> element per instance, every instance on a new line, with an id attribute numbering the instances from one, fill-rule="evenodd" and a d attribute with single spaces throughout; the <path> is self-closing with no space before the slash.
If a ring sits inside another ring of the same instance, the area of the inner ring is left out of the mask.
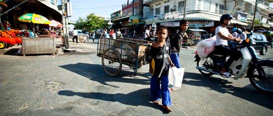
<path id="1" fill-rule="evenodd" d="M 188 29 L 189 22 L 188 20 L 181 20 L 179 23 L 179 31 L 170 35 L 170 44 L 171 44 L 171 60 L 174 63 L 175 67 L 180 68 L 180 58 L 179 53 L 182 47 L 183 38 L 186 37 L 185 31 Z"/>

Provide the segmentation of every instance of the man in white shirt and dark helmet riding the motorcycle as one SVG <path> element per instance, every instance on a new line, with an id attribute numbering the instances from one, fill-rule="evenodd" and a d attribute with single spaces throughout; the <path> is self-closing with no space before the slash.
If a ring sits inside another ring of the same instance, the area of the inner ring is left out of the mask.
<path id="1" fill-rule="evenodd" d="M 231 73 L 228 72 L 230 65 L 238 57 L 242 55 L 241 52 L 234 48 L 229 48 L 228 40 L 240 42 L 239 38 L 233 37 L 229 32 L 227 26 L 231 22 L 232 16 L 230 14 L 223 14 L 220 18 L 221 25 L 216 27 L 216 43 L 215 50 L 223 55 L 229 55 L 230 58 L 225 62 L 224 68 L 221 70 L 221 73 L 226 77 L 234 77 Z M 241 54 L 241 55 L 240 55 Z"/>

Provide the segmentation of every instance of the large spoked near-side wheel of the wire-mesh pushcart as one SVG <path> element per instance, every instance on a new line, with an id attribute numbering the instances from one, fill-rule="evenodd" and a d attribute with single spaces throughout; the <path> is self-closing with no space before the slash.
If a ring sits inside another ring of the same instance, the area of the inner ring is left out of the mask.
<path id="1" fill-rule="evenodd" d="M 116 76 L 120 73 L 122 63 L 119 52 L 113 48 L 106 49 L 102 54 L 102 66 L 109 76 Z"/>

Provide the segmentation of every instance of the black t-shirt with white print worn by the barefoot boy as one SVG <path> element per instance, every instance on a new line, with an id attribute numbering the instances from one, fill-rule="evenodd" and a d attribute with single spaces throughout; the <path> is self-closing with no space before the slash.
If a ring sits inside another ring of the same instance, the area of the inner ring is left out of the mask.
<path id="1" fill-rule="evenodd" d="M 171 46 L 166 41 L 162 47 L 151 46 L 149 51 L 149 63 L 151 63 L 153 68 L 153 76 L 161 77 L 169 75 L 170 63 L 168 60 L 171 54 Z"/>

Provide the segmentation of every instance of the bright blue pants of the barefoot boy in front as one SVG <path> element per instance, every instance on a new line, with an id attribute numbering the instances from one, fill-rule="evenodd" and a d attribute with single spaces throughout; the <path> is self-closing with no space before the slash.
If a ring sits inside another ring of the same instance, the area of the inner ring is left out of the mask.
<path id="1" fill-rule="evenodd" d="M 168 89 L 168 83 L 169 83 L 168 76 L 161 76 L 160 78 L 152 76 L 150 84 L 152 101 L 159 101 L 160 97 L 162 97 L 163 106 L 172 105 L 170 91 Z"/>

